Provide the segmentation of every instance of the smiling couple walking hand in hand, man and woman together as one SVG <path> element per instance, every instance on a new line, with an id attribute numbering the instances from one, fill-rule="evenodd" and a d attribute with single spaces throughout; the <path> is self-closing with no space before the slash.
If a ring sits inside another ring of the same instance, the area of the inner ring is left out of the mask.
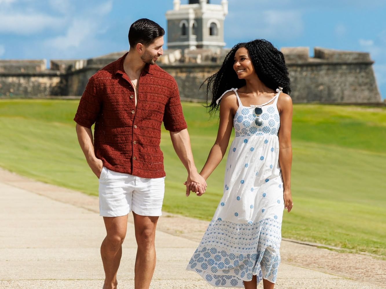
<path id="1" fill-rule="evenodd" d="M 134 216 L 138 249 L 135 288 L 150 286 L 154 239 L 164 197 L 161 125 L 188 171 L 186 195 L 201 196 L 230 144 L 223 197 L 187 270 L 217 287 L 272 289 L 280 263 L 283 210 L 291 197 L 292 101 L 283 54 L 262 39 L 239 43 L 207 79 L 209 112 L 219 110 L 215 143 L 198 173 L 176 81 L 156 65 L 164 29 L 143 18 L 129 30 L 130 50 L 91 76 L 74 121 L 88 165 L 99 178 L 99 207 L 107 235 L 101 245 L 104 289 L 117 271 Z M 94 135 L 91 126 L 95 124 Z"/>

